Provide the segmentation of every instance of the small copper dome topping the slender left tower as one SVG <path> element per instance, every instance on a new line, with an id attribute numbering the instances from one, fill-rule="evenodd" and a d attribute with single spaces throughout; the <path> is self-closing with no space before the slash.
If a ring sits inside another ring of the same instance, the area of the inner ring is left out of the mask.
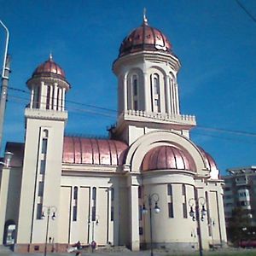
<path id="1" fill-rule="evenodd" d="M 52 76 L 58 79 L 66 80 L 64 70 L 53 61 L 52 55 L 49 55 L 49 60 L 39 65 L 36 70 L 32 73 L 32 78 L 35 77 Z"/>

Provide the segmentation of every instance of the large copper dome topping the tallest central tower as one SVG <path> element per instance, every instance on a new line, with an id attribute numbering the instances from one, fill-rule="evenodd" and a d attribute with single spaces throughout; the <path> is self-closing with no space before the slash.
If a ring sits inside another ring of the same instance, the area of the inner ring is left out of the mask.
<path id="1" fill-rule="evenodd" d="M 172 53 L 172 44 L 160 30 L 148 26 L 147 19 L 123 40 L 119 57 L 142 50 Z"/>

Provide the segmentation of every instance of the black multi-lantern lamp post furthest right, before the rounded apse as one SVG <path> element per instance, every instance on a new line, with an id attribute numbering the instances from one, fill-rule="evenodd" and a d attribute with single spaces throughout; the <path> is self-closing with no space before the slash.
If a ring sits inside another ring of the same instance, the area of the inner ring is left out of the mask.
<path id="1" fill-rule="evenodd" d="M 205 208 L 206 200 L 204 197 L 199 198 L 190 198 L 189 199 L 189 207 L 190 212 L 189 215 L 192 218 L 193 221 L 196 220 L 197 222 L 197 230 L 198 230 L 198 237 L 199 237 L 199 253 L 200 256 L 203 256 L 203 249 L 202 249 L 202 241 L 201 241 L 201 225 L 200 221 L 204 221 L 205 216 L 207 215 L 207 210 Z M 201 209 L 200 209 L 201 205 Z M 195 211 L 193 210 L 193 207 L 195 206 Z M 201 217 L 201 218 L 200 218 Z"/>

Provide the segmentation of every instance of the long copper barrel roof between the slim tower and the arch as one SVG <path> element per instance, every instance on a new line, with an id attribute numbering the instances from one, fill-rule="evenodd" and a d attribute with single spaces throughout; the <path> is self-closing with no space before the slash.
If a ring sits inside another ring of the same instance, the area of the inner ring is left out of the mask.
<path id="1" fill-rule="evenodd" d="M 96 138 L 64 137 L 62 162 L 119 166 L 123 164 L 125 143 Z"/>

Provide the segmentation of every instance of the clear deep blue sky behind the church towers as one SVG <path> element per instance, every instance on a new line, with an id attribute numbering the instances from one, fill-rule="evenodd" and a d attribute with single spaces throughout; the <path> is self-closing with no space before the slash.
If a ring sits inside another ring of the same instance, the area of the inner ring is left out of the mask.
<path id="1" fill-rule="evenodd" d="M 255 0 L 240 2 L 256 17 Z M 9 90 L 3 144 L 23 142 L 26 80 L 49 52 L 72 84 L 68 101 L 116 110 L 112 63 L 146 7 L 149 25 L 166 34 L 182 63 L 181 113 L 195 114 L 198 124 L 192 140 L 212 154 L 223 174 L 256 165 L 256 22 L 235 0 L 0 0 L 0 6 L 10 32 L 9 86 L 25 90 Z M 1 66 L 4 40 L 1 27 Z M 66 131 L 72 134 L 106 136 L 116 120 L 114 111 L 70 102 L 67 110 Z"/>

